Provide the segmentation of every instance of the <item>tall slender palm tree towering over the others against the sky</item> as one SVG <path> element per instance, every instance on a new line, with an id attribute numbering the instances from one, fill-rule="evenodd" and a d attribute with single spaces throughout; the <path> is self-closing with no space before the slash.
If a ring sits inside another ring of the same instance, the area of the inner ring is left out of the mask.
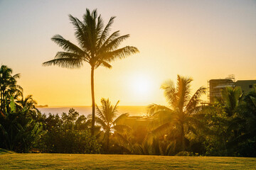
<path id="1" fill-rule="evenodd" d="M 123 59 L 129 55 L 139 52 L 137 47 L 118 46 L 122 41 L 129 38 L 127 35 L 119 35 L 119 30 L 110 34 L 110 28 L 115 17 L 104 28 L 101 16 L 97 16 L 97 10 L 92 13 L 86 9 L 83 21 L 69 15 L 71 23 L 75 28 L 75 38 L 78 45 L 66 40 L 61 35 L 54 35 L 51 40 L 63 48 L 64 52 L 57 52 L 55 58 L 44 62 L 43 66 L 58 65 L 66 68 L 80 68 L 87 62 L 91 67 L 91 91 L 92 91 L 92 135 L 95 128 L 95 92 L 94 92 L 94 72 L 97 67 L 103 66 L 111 68 L 110 62 Z"/>

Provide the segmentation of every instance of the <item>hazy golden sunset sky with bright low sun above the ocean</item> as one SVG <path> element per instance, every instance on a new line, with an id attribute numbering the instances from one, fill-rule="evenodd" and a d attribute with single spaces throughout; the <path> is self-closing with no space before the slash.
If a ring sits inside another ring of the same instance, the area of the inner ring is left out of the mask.
<path id="1" fill-rule="evenodd" d="M 256 1 L 0 0 L 0 62 L 20 73 L 24 95 L 39 105 L 90 106 L 90 66 L 43 67 L 61 51 L 55 34 L 76 43 L 68 14 L 82 19 L 97 8 L 112 32 L 130 34 L 120 45 L 139 54 L 95 71 L 95 99 L 119 105 L 166 105 L 161 84 L 192 77 L 192 91 L 209 79 L 256 79 Z M 203 100 L 207 97 L 203 96 Z"/>

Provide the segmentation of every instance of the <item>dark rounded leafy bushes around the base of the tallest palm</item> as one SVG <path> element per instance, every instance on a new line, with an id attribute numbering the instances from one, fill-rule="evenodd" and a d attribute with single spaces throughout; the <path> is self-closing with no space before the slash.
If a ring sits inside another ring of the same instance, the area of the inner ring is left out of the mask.
<path id="1" fill-rule="evenodd" d="M 38 142 L 40 152 L 99 154 L 100 144 L 95 137 L 90 137 L 88 124 L 90 121 L 73 108 L 61 117 L 49 114 L 43 116 L 43 130 Z"/>

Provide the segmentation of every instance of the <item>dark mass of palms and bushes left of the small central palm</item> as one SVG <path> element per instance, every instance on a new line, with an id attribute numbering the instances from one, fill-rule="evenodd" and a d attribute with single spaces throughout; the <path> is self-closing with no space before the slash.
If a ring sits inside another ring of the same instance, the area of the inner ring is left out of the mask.
<path id="1" fill-rule="evenodd" d="M 15 152 L 100 153 L 100 144 L 90 137 L 84 115 L 73 109 L 59 115 L 42 115 L 32 96 L 23 97 L 16 84 L 19 74 L 0 68 L 0 148 Z"/>

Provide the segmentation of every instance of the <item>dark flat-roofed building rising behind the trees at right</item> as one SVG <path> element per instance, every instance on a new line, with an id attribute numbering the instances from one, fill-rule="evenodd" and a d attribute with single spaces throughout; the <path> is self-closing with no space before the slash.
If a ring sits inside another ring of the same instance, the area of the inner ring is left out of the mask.
<path id="1" fill-rule="evenodd" d="M 210 103 L 215 101 L 215 98 L 221 96 L 221 91 L 227 86 L 240 86 L 243 93 L 249 93 L 256 85 L 256 80 L 238 80 L 235 81 L 233 74 L 225 79 L 210 79 L 208 81 L 208 100 Z"/>

